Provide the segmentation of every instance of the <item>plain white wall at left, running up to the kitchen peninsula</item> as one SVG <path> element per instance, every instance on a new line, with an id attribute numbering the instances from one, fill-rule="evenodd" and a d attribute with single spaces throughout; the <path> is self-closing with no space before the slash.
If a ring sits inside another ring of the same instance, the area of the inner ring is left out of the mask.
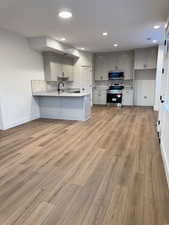
<path id="1" fill-rule="evenodd" d="M 44 70 L 41 54 L 15 33 L 0 30 L 0 49 L 0 124 L 7 129 L 39 117 L 31 80 L 44 79 Z"/>

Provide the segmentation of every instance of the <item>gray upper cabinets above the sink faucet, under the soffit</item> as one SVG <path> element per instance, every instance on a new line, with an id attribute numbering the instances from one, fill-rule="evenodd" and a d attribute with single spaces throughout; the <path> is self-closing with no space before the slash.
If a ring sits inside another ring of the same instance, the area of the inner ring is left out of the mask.
<path id="1" fill-rule="evenodd" d="M 59 78 L 67 78 L 68 81 L 73 81 L 72 58 L 51 52 L 45 52 L 43 58 L 46 81 L 58 81 Z"/>

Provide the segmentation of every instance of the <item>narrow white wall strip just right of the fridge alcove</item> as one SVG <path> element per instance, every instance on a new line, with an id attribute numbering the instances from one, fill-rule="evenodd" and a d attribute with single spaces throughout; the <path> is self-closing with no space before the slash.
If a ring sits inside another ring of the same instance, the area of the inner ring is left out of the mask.
<path id="1" fill-rule="evenodd" d="M 164 46 L 160 45 L 158 48 L 157 71 L 156 71 L 156 89 L 155 89 L 155 104 L 154 104 L 154 110 L 156 111 L 159 111 L 160 108 L 161 77 L 164 60 L 163 54 L 164 54 Z"/>

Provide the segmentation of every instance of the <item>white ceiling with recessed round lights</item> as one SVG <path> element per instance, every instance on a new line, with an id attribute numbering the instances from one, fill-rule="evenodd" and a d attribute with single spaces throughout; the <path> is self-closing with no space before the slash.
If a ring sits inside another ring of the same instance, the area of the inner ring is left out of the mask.
<path id="1" fill-rule="evenodd" d="M 72 19 L 58 18 L 61 9 L 70 9 Z M 161 41 L 164 28 L 153 26 L 164 27 L 168 13 L 168 0 L 0 0 L 0 27 L 101 52 L 115 50 L 113 43 L 121 50 L 151 46 L 148 37 Z"/>

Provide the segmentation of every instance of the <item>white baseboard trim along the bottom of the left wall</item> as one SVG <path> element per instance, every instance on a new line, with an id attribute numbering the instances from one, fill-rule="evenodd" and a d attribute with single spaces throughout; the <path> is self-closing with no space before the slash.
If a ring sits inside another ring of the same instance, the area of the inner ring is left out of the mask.
<path id="1" fill-rule="evenodd" d="M 22 125 L 24 123 L 28 123 L 32 120 L 36 120 L 36 119 L 39 119 L 40 118 L 40 114 L 32 114 L 30 116 L 27 116 L 27 117 L 24 117 L 18 121 L 15 121 L 13 123 L 10 123 L 10 124 L 7 124 L 6 126 L 3 127 L 3 130 L 8 130 L 10 128 L 13 128 L 13 127 L 17 127 L 19 125 Z"/>

